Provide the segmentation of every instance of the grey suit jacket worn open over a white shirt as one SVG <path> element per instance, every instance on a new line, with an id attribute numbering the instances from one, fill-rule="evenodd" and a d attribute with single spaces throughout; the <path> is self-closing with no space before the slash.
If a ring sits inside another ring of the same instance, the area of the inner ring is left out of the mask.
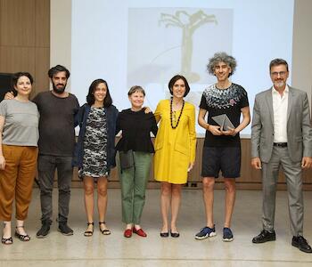
<path id="1" fill-rule="evenodd" d="M 312 127 L 308 95 L 289 87 L 287 109 L 287 144 L 291 160 L 312 157 Z M 256 95 L 251 125 L 251 158 L 269 162 L 274 142 L 272 87 Z"/>

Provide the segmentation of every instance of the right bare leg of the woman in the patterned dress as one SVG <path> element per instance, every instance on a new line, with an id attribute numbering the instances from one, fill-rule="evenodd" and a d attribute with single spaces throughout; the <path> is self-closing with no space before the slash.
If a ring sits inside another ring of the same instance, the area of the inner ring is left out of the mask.
<path id="1" fill-rule="evenodd" d="M 100 222 L 105 222 L 107 209 L 107 178 L 101 177 L 97 179 L 97 209 L 99 212 Z M 107 230 L 105 223 L 100 224 L 101 231 Z"/>

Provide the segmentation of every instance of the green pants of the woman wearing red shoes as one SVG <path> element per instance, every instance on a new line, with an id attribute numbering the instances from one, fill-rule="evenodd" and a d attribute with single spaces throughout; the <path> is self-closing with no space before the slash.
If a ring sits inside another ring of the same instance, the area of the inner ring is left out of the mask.
<path id="1" fill-rule="evenodd" d="M 122 222 L 139 224 L 150 177 L 152 154 L 134 151 L 135 166 L 120 170 Z"/>

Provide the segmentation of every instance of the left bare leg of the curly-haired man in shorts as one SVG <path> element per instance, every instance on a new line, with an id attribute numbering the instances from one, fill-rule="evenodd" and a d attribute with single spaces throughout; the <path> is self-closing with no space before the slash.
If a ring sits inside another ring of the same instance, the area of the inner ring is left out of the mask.
<path id="1" fill-rule="evenodd" d="M 215 187 L 214 177 L 202 178 L 202 197 L 205 205 L 206 223 L 209 228 L 213 228 L 213 190 Z"/>

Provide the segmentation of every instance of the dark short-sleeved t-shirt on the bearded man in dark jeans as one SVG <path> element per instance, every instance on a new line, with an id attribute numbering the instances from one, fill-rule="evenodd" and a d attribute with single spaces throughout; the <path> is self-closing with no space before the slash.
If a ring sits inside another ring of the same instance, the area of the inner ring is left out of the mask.
<path id="1" fill-rule="evenodd" d="M 79 104 L 74 94 L 61 98 L 51 91 L 33 100 L 40 113 L 39 154 L 72 157 L 75 145 L 75 116 Z"/>

